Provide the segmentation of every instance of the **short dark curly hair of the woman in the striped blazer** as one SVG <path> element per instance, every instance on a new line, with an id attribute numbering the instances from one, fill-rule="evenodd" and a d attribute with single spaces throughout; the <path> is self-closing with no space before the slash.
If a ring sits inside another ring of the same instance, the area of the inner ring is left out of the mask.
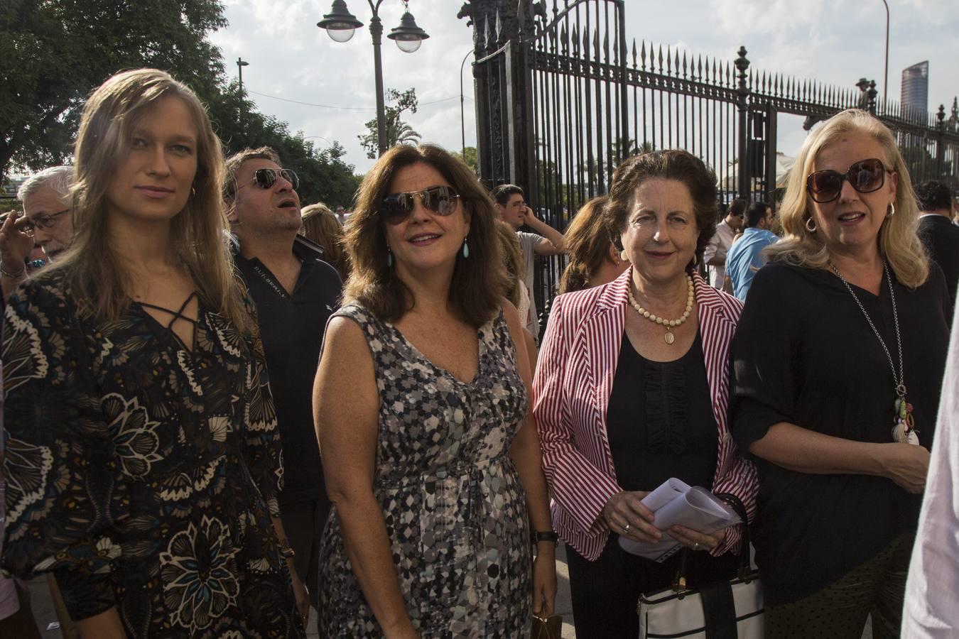
<path id="1" fill-rule="evenodd" d="M 620 233 L 626 225 L 626 218 L 629 217 L 636 190 L 643 182 L 654 177 L 682 182 L 690 190 L 692 213 L 696 219 L 696 228 L 699 229 L 695 261 L 702 261 L 706 244 L 715 233 L 719 212 L 716 204 L 716 176 L 705 162 L 681 148 L 634 155 L 623 160 L 617 167 L 609 189 L 609 201 L 603 207 L 603 219 L 610 241 L 622 250 Z M 687 264 L 686 269 L 690 273 L 694 268 L 695 262 Z"/>

